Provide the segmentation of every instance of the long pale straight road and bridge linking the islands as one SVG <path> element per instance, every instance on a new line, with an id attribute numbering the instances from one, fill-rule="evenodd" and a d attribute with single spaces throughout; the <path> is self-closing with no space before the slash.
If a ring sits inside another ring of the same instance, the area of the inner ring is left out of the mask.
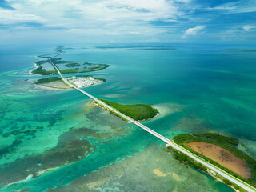
<path id="1" fill-rule="evenodd" d="M 56 57 L 56 56 L 55 56 Z M 66 80 L 66 78 L 64 78 L 61 74 L 61 72 L 58 70 L 58 67 L 54 65 L 54 63 L 51 61 L 51 58 L 49 58 L 51 64 L 54 66 L 54 68 L 58 71 L 58 74 L 61 76 L 63 82 L 65 82 L 67 85 L 69 85 L 70 87 L 73 87 L 74 89 L 80 91 L 82 94 L 86 94 L 86 96 L 94 99 L 94 101 L 98 102 L 99 104 L 101 104 L 102 106 L 105 106 L 106 109 L 113 111 L 114 113 L 120 115 L 122 118 L 125 118 L 128 122 L 134 123 L 136 126 L 139 126 L 140 128 L 142 128 L 143 130 L 146 130 L 148 133 L 153 134 L 155 137 L 161 139 L 163 142 L 166 142 L 166 146 L 172 146 L 174 149 L 179 150 L 180 152 L 182 152 L 183 154 L 188 155 L 190 158 L 193 158 L 195 161 L 202 163 L 202 165 L 206 166 L 207 168 L 209 168 L 210 170 L 214 170 L 216 173 L 222 175 L 223 178 L 226 178 L 228 180 L 230 180 L 230 182 L 234 182 L 235 184 L 237 184 L 238 186 L 241 186 L 243 189 L 249 191 L 249 192 L 256 192 L 256 189 L 248 184 L 246 184 L 246 182 L 242 182 L 241 180 L 239 180 L 238 178 L 234 178 L 234 176 L 226 173 L 226 171 L 219 169 L 218 167 L 210 164 L 209 162 L 205 162 L 204 160 L 198 158 L 195 154 L 192 154 L 189 150 L 186 150 L 184 148 L 182 148 L 182 146 L 178 146 L 178 144 L 170 141 L 170 139 L 165 138 L 164 136 L 162 136 L 161 134 L 158 134 L 157 132 L 155 132 L 154 130 L 151 130 L 150 128 L 148 128 L 147 126 L 142 125 L 142 123 L 140 122 L 136 122 L 134 121 L 134 119 L 126 116 L 125 114 L 120 113 L 118 110 L 115 110 L 114 108 L 112 108 L 111 106 L 106 105 L 105 102 L 102 102 L 101 100 L 99 100 L 98 98 L 95 98 L 93 95 L 88 94 L 86 91 L 81 90 L 77 87 L 75 87 L 74 85 L 70 84 L 70 82 L 68 82 Z"/>

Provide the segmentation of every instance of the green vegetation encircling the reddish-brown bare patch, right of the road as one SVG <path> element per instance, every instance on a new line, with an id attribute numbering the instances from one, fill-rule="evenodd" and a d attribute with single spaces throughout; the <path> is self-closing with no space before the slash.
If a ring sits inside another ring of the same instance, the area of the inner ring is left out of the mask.
<path id="1" fill-rule="evenodd" d="M 198 157 L 204 158 L 207 162 L 210 162 L 214 166 L 218 166 L 222 170 L 225 170 L 227 173 L 232 174 L 234 177 L 241 179 L 244 182 L 249 183 L 251 186 L 256 186 L 256 160 L 251 158 L 249 155 L 242 152 L 242 150 L 238 150 L 238 140 L 235 138 L 230 138 L 223 136 L 221 134 L 180 134 L 174 137 L 174 142 L 178 145 L 183 146 L 186 150 L 190 150 L 190 152 L 197 154 Z M 214 145 L 220 146 L 226 150 L 229 150 L 236 157 L 241 158 L 244 162 L 246 162 L 247 167 L 250 169 L 251 178 L 242 178 L 240 175 L 235 174 L 233 171 L 227 169 L 218 164 L 218 162 L 214 162 L 210 158 L 206 158 L 204 155 L 195 152 L 190 149 L 188 146 L 184 146 L 184 143 L 189 142 L 207 142 L 212 143 Z"/>

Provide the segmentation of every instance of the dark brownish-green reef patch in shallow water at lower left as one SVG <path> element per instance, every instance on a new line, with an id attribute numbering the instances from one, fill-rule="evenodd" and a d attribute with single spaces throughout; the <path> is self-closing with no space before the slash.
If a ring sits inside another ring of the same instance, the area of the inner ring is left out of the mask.
<path id="1" fill-rule="evenodd" d="M 90 134 L 93 131 L 86 128 L 70 130 L 58 138 L 58 145 L 53 149 L 1 165 L 0 187 L 26 179 L 31 174 L 36 178 L 40 174 L 85 158 L 96 149 L 90 142 L 81 139 Z"/>

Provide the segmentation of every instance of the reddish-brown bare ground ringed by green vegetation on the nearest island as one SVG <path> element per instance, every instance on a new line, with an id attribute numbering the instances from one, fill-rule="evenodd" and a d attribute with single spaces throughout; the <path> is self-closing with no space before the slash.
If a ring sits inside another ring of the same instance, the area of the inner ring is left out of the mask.
<path id="1" fill-rule="evenodd" d="M 184 143 L 184 145 L 189 146 L 192 150 L 214 160 L 214 162 L 218 162 L 221 166 L 232 170 L 243 178 L 250 178 L 250 170 L 248 170 L 246 162 L 242 161 L 241 158 L 234 156 L 234 154 L 231 154 L 230 151 L 206 142 L 190 142 Z"/>

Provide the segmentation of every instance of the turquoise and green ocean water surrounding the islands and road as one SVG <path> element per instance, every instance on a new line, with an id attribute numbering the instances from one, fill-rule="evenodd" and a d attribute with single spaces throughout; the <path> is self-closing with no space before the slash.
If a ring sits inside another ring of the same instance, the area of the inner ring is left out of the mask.
<path id="1" fill-rule="evenodd" d="M 56 46 L 0 46 L 0 191 L 233 191 L 78 91 L 35 86 L 36 56 Z M 254 46 L 66 47 L 63 60 L 110 65 L 87 73 L 106 78 L 83 88 L 95 97 L 154 105 L 143 123 L 166 138 L 218 132 L 256 158 Z"/>

